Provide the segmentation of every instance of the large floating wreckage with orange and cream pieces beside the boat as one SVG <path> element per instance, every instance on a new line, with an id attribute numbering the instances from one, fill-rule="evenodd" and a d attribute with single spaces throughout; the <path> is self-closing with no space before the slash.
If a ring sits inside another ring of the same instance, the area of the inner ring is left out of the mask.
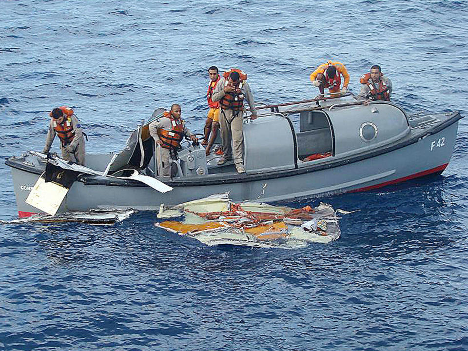
<path id="1" fill-rule="evenodd" d="M 158 218 L 182 215 L 183 221 L 156 222 L 155 226 L 208 246 L 296 248 L 309 242 L 329 243 L 340 236 L 340 217 L 326 203 L 299 209 L 262 202 L 236 204 L 225 193 L 165 210 L 161 206 Z"/>

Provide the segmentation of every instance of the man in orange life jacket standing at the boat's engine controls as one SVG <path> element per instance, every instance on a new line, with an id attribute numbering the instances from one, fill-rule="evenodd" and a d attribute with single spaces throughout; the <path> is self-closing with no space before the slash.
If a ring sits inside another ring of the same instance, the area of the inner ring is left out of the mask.
<path id="1" fill-rule="evenodd" d="M 198 141 L 192 132 L 185 126 L 180 118 L 182 109 L 179 104 L 173 104 L 171 111 L 164 112 L 161 117 L 149 125 L 150 135 L 155 139 L 156 162 L 158 176 L 172 176 L 172 162 L 177 159 L 177 149 L 184 136 L 190 137 L 192 141 Z"/>

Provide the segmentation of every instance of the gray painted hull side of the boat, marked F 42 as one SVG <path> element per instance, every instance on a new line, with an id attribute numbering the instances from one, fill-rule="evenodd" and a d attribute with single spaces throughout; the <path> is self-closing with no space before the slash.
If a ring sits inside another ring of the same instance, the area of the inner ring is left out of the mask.
<path id="1" fill-rule="evenodd" d="M 174 190 L 161 194 L 143 184 L 93 184 L 76 181 L 59 208 L 60 212 L 92 208 L 134 208 L 157 210 L 159 205 L 176 205 L 204 196 L 230 192 L 234 201 L 259 199 L 264 202 L 377 189 L 416 177 L 444 171 L 452 155 L 458 121 L 437 133 L 419 138 L 404 147 L 375 156 L 342 160 L 319 169 L 307 165 L 274 176 L 239 176 L 233 182 L 205 184 L 174 182 Z M 25 203 L 39 175 L 12 167 L 20 216 L 41 213 Z"/>

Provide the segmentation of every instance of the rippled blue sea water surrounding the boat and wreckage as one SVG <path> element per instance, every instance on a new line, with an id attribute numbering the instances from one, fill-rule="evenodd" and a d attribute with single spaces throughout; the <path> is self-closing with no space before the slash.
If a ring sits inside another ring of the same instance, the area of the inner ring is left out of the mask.
<path id="1" fill-rule="evenodd" d="M 201 132 L 207 68 L 257 101 L 312 98 L 346 64 L 380 64 L 408 113 L 468 112 L 468 2 L 2 0 L 0 156 L 43 148 L 68 105 L 91 153 L 157 107 Z M 55 141 L 55 149 L 58 142 Z M 111 227 L 0 225 L 0 350 L 468 350 L 468 120 L 442 176 L 290 203 L 359 212 L 330 244 L 207 247 L 140 212 Z M 17 217 L 0 164 L 0 219 Z"/>

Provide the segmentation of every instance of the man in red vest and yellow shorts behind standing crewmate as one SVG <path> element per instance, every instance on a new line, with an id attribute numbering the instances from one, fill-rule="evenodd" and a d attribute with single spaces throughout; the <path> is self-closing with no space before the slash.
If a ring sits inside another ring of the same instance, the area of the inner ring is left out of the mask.
<path id="1" fill-rule="evenodd" d="M 218 74 L 218 68 L 216 66 L 211 66 L 208 69 L 208 75 L 210 76 L 210 83 L 208 84 L 208 91 L 206 93 L 206 99 L 208 101 L 208 116 L 206 117 L 204 134 L 205 137 L 201 142 L 202 145 L 206 146 L 206 156 L 210 155 L 211 148 L 215 142 L 216 136 L 218 135 L 219 128 L 219 102 L 214 102 L 211 97 L 213 95 L 213 90 L 215 90 L 216 84 L 221 79 Z M 210 137 L 211 135 L 211 137 Z"/>

